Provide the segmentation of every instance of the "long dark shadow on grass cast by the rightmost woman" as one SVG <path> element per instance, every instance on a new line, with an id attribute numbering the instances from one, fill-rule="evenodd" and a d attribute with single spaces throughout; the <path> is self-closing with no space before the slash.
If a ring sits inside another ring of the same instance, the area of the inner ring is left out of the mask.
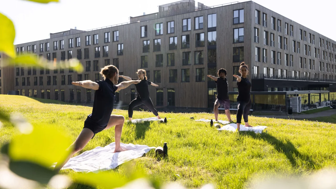
<path id="1" fill-rule="evenodd" d="M 251 136 L 254 139 L 261 139 L 266 141 L 268 144 L 274 146 L 274 148 L 279 152 L 286 155 L 287 159 L 291 162 L 292 167 L 298 167 L 296 159 L 300 159 L 301 161 L 304 161 L 309 165 L 311 168 L 315 168 L 317 165 L 316 163 L 311 159 L 311 157 L 300 153 L 293 143 L 291 143 L 290 140 L 286 139 L 286 142 L 280 141 L 279 139 L 275 138 L 274 136 L 268 134 L 268 133 L 261 133 L 256 134 L 254 132 L 246 131 L 246 132 L 239 132 L 242 136 Z"/>

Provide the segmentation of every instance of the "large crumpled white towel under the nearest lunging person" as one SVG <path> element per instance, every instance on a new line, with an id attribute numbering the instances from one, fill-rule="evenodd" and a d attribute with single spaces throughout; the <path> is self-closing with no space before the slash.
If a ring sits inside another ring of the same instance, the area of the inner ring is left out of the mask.
<path id="1" fill-rule="evenodd" d="M 74 171 L 85 173 L 114 169 L 118 165 L 141 157 L 144 153 L 155 148 L 146 145 L 120 143 L 120 146 L 127 151 L 113 153 L 115 146 L 116 144 L 113 142 L 105 147 L 98 146 L 92 150 L 83 152 L 78 156 L 70 158 L 62 169 L 73 169 Z"/>

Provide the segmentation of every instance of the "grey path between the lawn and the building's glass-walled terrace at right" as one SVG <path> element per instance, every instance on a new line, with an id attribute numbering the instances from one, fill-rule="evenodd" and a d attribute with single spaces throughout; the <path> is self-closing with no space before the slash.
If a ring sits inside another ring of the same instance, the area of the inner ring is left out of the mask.
<path id="1" fill-rule="evenodd" d="M 336 114 L 336 109 L 326 110 L 322 112 L 317 112 L 313 114 L 293 114 L 293 115 L 256 115 L 256 117 L 269 117 L 269 118 L 283 118 L 288 119 L 288 116 L 290 119 L 309 119 L 309 118 L 315 118 L 315 117 L 324 117 L 324 116 L 331 116 Z M 253 115 L 253 113 L 252 113 Z"/>

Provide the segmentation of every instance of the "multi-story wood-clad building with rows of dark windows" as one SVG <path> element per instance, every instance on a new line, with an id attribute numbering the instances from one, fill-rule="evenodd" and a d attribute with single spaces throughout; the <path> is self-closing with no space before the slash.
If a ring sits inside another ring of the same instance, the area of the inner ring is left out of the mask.
<path id="1" fill-rule="evenodd" d="M 213 107 L 216 85 L 207 75 L 226 69 L 229 91 L 236 91 L 232 75 L 241 62 L 249 66 L 252 91 L 336 91 L 336 42 L 253 1 L 195 7 L 194 0 L 183 0 L 130 17 L 130 23 L 17 44 L 16 52 L 80 60 L 83 73 L 15 67 L 20 95 L 66 102 L 92 102 L 93 91 L 71 82 L 101 79 L 100 68 L 110 64 L 132 78 L 145 69 L 159 85 L 150 87 L 156 107 Z M 116 101 L 127 104 L 135 94 L 131 85 Z"/>

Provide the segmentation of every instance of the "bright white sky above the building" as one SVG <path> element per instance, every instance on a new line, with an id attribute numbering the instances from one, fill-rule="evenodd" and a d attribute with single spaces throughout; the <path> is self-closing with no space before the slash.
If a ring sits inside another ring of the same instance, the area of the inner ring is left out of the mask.
<path id="1" fill-rule="evenodd" d="M 40 4 L 26 0 L 0 0 L 0 12 L 15 26 L 14 44 L 47 39 L 49 33 L 89 30 L 129 22 L 129 16 L 158 12 L 158 6 L 177 0 L 59 0 Z M 245 0 L 244 0 L 245 1 Z M 244 2 L 240 1 L 240 2 Z M 233 1 L 195 0 L 207 6 Z M 303 26 L 336 40 L 335 0 L 254 0 Z M 328 8 L 329 7 L 329 8 Z M 333 7 L 333 8 L 331 8 Z M 301 12 L 304 11 L 302 15 Z M 1 24 L 1 23 L 0 23 Z"/>

